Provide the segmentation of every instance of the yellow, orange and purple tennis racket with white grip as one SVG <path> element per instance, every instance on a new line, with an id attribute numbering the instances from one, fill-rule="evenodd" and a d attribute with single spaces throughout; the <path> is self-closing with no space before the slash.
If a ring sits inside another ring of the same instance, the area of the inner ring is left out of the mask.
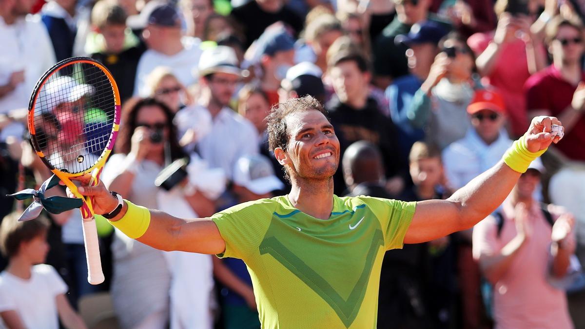
<path id="1" fill-rule="evenodd" d="M 81 210 L 88 282 L 104 282 L 92 197 L 77 191 L 72 177 L 91 173 L 98 184 L 120 125 L 118 87 L 99 62 L 75 57 L 60 61 L 39 79 L 30 96 L 28 126 L 37 155 L 84 200 Z"/>

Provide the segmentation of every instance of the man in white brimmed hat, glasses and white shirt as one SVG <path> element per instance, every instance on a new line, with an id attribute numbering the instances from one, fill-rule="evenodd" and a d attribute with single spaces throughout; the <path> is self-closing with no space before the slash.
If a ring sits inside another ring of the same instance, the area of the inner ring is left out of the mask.
<path id="1" fill-rule="evenodd" d="M 225 170 L 231 180 L 239 157 L 258 153 L 256 128 L 228 107 L 242 76 L 236 53 L 227 46 L 205 50 L 199 61 L 199 76 L 199 106 L 182 109 L 177 113 L 175 122 L 179 132 L 185 133 L 197 126 L 196 122 L 185 118 L 189 118 L 194 111 L 209 111 L 212 126 L 207 135 L 198 139 L 199 153 L 210 167 Z"/>

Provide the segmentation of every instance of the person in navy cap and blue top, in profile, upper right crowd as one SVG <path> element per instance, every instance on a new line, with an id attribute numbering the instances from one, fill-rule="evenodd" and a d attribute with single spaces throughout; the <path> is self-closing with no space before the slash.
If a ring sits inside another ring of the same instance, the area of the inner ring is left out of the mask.
<path id="1" fill-rule="evenodd" d="M 424 138 L 424 130 L 414 128 L 408 119 L 408 109 L 412 105 L 415 92 L 429 76 L 436 55 L 440 52 L 439 40 L 447 31 L 436 22 L 427 20 L 412 25 L 408 35 L 399 35 L 397 42 L 408 46 L 406 56 L 410 74 L 397 78 L 386 89 L 386 97 L 390 102 L 390 115 L 398 128 L 398 143 L 401 156 L 406 159 L 417 140 Z"/>

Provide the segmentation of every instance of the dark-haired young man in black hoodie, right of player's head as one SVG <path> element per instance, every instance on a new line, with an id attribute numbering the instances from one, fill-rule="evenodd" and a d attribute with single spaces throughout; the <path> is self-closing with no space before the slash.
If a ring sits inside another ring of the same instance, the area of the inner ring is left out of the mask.
<path id="1" fill-rule="evenodd" d="M 326 107 L 339 138 L 341 156 L 357 140 L 378 146 L 384 159 L 388 191 L 399 194 L 404 187 L 406 164 L 395 157 L 400 152 L 396 127 L 369 97 L 371 74 L 366 59 L 360 53 L 342 52 L 331 57 L 328 64 L 335 95 Z M 339 173 L 335 186 L 343 191 L 345 184 Z"/>

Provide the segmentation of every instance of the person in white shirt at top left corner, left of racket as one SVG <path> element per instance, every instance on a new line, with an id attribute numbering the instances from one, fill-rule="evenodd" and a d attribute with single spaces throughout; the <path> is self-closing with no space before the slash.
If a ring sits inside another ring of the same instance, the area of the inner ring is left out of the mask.
<path id="1" fill-rule="evenodd" d="M 0 3 L 0 114 L 27 108 L 30 91 L 39 77 L 55 64 L 55 53 L 47 29 L 38 19 L 26 15 L 32 1 L 6 0 Z M 39 56 L 42 54 L 42 56 Z M 11 122 L 2 128 L 0 140 L 23 135 L 23 125 Z"/>

